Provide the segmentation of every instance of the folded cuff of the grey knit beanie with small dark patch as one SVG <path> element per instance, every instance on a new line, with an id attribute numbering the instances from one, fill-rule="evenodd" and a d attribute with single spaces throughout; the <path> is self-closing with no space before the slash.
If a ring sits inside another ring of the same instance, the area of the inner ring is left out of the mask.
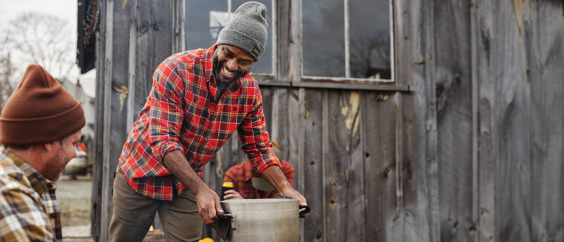
<path id="1" fill-rule="evenodd" d="M 265 46 L 261 42 L 257 41 L 244 33 L 232 29 L 223 29 L 219 32 L 216 45 L 232 45 L 239 47 L 241 50 L 249 53 L 253 56 L 255 62 L 261 57 L 265 52 Z"/>

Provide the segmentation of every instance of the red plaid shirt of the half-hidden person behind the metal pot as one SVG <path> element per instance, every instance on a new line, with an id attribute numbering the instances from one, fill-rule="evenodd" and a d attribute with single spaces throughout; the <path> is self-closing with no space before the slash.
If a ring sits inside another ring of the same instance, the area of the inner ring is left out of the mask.
<path id="1" fill-rule="evenodd" d="M 294 182 L 294 168 L 290 163 L 282 161 L 280 167 L 284 175 L 288 179 L 290 185 Z M 250 161 L 245 161 L 243 163 L 231 166 L 226 172 L 223 182 L 233 183 L 233 190 L 239 192 L 239 194 L 244 199 L 272 199 L 278 195 L 276 190 L 274 191 L 258 191 L 257 188 L 253 187 L 251 182 L 252 178 L 252 167 Z M 222 194 L 224 196 L 224 194 Z"/>

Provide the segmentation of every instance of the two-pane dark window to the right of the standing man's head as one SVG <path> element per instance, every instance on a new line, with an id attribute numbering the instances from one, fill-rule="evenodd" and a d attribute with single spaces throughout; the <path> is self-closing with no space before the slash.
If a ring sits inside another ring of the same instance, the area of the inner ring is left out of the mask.
<path id="1" fill-rule="evenodd" d="M 389 0 L 302 1 L 302 75 L 391 80 Z"/>

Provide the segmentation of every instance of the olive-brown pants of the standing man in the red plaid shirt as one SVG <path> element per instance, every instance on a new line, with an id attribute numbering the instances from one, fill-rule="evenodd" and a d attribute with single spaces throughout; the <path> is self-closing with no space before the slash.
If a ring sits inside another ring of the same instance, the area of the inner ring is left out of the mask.
<path id="1" fill-rule="evenodd" d="M 186 190 L 172 201 L 151 199 L 129 186 L 121 171 L 113 182 L 113 210 L 108 241 L 143 241 L 155 219 L 161 219 L 166 241 L 199 241 L 202 219 L 196 197 Z"/>

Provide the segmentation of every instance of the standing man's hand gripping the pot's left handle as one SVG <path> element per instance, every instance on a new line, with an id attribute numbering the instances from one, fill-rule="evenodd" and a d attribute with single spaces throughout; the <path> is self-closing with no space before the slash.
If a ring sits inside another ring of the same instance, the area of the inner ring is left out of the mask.
<path id="1" fill-rule="evenodd" d="M 198 213 L 200 217 L 204 219 L 206 225 L 211 225 L 215 221 L 218 221 L 219 218 L 215 213 L 223 212 L 219 204 L 219 196 L 208 187 L 198 191 L 195 196 L 196 203 L 198 204 Z"/>

